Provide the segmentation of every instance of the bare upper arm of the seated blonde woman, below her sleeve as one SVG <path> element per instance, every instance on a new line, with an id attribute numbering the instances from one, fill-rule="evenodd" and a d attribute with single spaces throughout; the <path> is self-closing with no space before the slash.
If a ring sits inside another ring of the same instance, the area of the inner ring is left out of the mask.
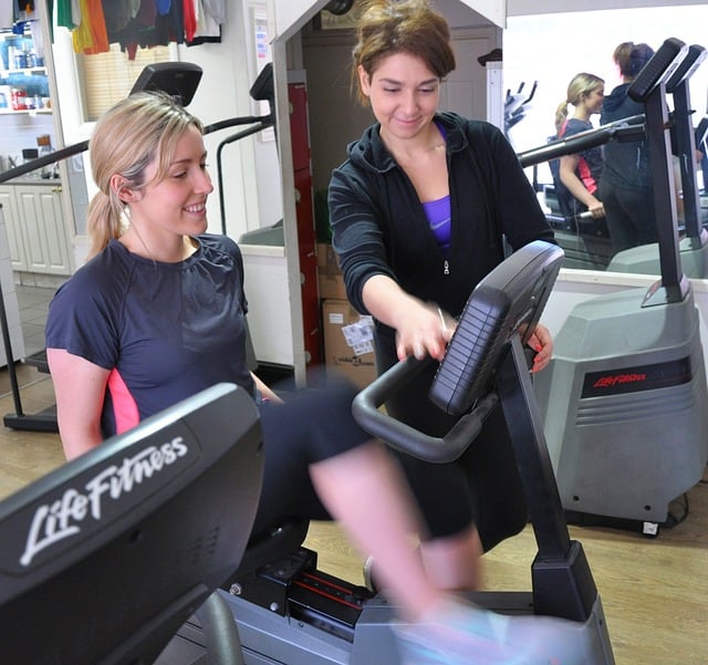
<path id="1" fill-rule="evenodd" d="M 101 409 L 108 370 L 63 349 L 48 349 L 56 418 L 66 459 L 73 459 L 103 443 Z"/>

